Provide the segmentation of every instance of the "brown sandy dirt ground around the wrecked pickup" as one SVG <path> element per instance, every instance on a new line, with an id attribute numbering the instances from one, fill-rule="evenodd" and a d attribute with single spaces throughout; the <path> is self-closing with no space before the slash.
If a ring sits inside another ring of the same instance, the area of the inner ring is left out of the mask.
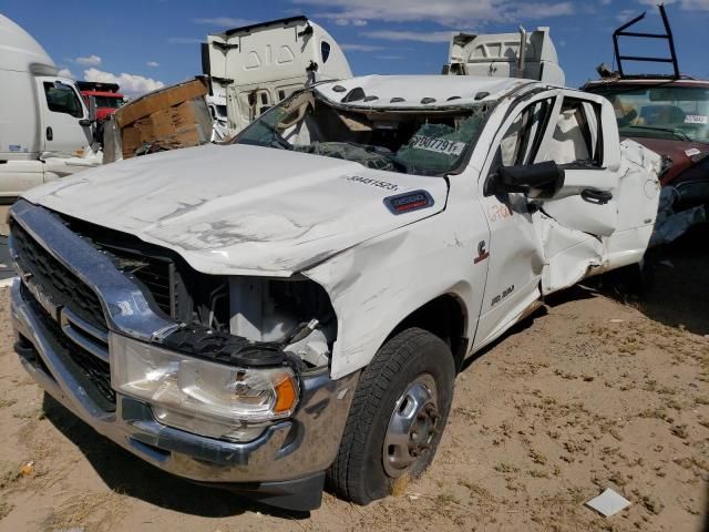
<path id="1" fill-rule="evenodd" d="M 44 397 L 0 291 L 0 532 L 709 531 L 709 248 L 675 246 L 639 303 L 576 287 L 459 376 L 429 472 L 357 507 L 275 511 L 143 463 Z M 633 502 L 604 519 L 584 502 Z"/>

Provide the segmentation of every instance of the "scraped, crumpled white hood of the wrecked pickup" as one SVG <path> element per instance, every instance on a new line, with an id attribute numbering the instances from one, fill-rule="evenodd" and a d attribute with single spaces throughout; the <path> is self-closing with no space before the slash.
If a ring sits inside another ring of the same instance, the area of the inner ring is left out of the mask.
<path id="1" fill-rule="evenodd" d="M 425 190 L 431 207 L 383 200 Z M 259 146 L 205 145 L 113 163 L 34 188 L 32 203 L 179 253 L 207 274 L 288 276 L 440 212 L 441 177 Z"/>

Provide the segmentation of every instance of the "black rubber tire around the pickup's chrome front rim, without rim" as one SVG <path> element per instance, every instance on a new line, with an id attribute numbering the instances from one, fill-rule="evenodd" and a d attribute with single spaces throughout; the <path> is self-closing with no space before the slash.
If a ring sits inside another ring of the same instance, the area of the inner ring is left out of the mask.
<path id="1" fill-rule="evenodd" d="M 391 493 L 395 479 L 384 468 L 384 438 L 400 397 L 420 378 L 435 382 L 438 416 L 428 449 L 404 474 L 415 478 L 431 463 L 451 408 L 455 368 L 445 342 L 410 328 L 390 338 L 362 371 L 338 456 L 328 471 L 329 487 L 338 497 L 368 504 Z"/>

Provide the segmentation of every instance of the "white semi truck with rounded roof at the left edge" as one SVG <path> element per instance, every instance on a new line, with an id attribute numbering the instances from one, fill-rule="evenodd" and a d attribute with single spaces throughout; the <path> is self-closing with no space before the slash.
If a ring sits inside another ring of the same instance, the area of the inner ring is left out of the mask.
<path id="1" fill-rule="evenodd" d="M 0 14 L 0 198 L 100 164 L 89 111 L 32 35 Z"/>

